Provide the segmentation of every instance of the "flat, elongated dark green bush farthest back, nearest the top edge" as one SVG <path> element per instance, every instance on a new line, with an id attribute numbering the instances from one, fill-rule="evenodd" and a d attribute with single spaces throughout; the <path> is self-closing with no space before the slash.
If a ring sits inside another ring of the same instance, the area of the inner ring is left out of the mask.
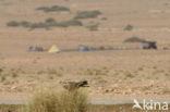
<path id="1" fill-rule="evenodd" d="M 44 12 L 60 12 L 60 11 L 70 11 L 70 9 L 65 7 L 60 7 L 60 5 L 53 5 L 53 7 L 39 7 L 36 10 L 42 10 Z"/>

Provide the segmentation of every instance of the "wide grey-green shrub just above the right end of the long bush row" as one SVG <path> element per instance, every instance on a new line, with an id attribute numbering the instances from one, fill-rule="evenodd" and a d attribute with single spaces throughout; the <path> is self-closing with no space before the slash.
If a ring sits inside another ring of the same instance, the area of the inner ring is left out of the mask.
<path id="1" fill-rule="evenodd" d="M 100 14 L 101 12 L 97 10 L 96 11 L 81 11 L 81 12 L 77 12 L 74 18 L 95 18 Z"/>

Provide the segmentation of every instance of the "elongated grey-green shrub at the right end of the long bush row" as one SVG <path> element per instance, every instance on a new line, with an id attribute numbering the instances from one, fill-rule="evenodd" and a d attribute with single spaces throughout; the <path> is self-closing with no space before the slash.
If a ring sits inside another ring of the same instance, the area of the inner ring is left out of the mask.
<path id="1" fill-rule="evenodd" d="M 61 27 L 83 26 L 83 23 L 77 20 L 70 20 L 70 21 L 58 23 L 58 26 L 61 26 Z"/>

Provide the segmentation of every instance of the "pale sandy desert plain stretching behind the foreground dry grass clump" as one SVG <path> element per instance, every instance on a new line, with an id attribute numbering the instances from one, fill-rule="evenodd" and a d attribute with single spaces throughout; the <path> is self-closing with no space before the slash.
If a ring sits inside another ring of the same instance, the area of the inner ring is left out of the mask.
<path id="1" fill-rule="evenodd" d="M 38 7 L 65 5 L 68 12 L 44 13 Z M 77 11 L 99 10 L 99 30 L 85 27 L 34 29 L 8 27 L 9 21 L 42 22 L 72 18 Z M 60 80 L 87 79 L 92 99 L 170 98 L 170 2 L 169 0 L 0 0 L 0 99 L 27 99 L 37 88 L 62 90 Z M 101 21 L 107 17 L 107 21 Z M 127 24 L 132 32 L 124 32 Z M 123 43 L 131 36 L 158 42 L 158 50 L 95 52 L 28 52 L 28 46 L 49 49 L 137 46 Z"/>

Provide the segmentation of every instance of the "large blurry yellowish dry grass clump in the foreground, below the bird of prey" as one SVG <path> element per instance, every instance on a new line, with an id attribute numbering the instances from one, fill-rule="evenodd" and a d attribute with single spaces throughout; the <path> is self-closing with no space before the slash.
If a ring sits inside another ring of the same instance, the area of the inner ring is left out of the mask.
<path id="1" fill-rule="evenodd" d="M 24 112 L 87 112 L 87 97 L 80 90 L 41 90 L 33 97 Z"/>

